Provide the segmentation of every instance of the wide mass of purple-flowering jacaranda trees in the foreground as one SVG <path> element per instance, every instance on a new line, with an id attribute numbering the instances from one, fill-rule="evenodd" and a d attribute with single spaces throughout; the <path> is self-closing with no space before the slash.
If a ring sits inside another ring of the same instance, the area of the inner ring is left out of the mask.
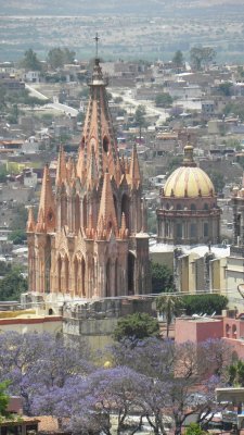
<path id="1" fill-rule="evenodd" d="M 7 332 L 0 334 L 0 382 L 8 378 L 8 393 L 22 396 L 25 414 L 52 415 L 62 432 L 112 435 L 126 428 L 132 435 L 145 419 L 154 434 L 165 435 L 170 423 L 179 435 L 192 413 L 202 425 L 203 414 L 219 409 L 215 388 L 232 362 L 230 349 L 222 340 L 124 339 L 111 348 L 112 364 L 105 369 L 92 364 L 80 337 L 73 343 Z M 107 358 L 107 349 L 100 357 Z M 134 409 L 138 418 L 131 424 Z"/>

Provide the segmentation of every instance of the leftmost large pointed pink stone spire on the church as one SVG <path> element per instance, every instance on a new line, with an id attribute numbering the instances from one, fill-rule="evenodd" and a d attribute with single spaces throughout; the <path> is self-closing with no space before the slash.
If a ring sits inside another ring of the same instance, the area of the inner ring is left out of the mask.
<path id="1" fill-rule="evenodd" d="M 54 198 L 48 164 L 44 166 L 42 178 L 37 231 L 38 228 L 47 232 L 53 232 L 55 228 Z"/>

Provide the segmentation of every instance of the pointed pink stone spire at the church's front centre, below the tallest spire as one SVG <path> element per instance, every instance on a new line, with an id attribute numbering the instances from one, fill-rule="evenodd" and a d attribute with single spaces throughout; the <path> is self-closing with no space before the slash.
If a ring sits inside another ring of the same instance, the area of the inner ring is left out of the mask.
<path id="1" fill-rule="evenodd" d="M 103 234 L 103 237 L 107 238 L 112 229 L 114 231 L 115 235 L 118 234 L 118 224 L 111 186 L 111 176 L 108 172 L 106 172 L 104 174 L 102 197 L 99 210 L 98 236 L 99 234 Z"/>

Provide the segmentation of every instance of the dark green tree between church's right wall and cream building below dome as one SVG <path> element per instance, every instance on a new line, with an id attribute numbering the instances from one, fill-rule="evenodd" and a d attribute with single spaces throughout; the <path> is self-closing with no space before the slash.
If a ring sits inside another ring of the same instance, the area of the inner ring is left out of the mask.
<path id="1" fill-rule="evenodd" d="M 174 289 L 174 275 L 166 264 L 152 263 L 152 293 Z"/>

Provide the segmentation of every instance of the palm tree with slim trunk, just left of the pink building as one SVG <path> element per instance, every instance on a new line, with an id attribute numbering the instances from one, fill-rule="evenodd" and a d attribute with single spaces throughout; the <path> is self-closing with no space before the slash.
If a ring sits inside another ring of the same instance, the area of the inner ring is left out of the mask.
<path id="1" fill-rule="evenodd" d="M 172 323 L 172 319 L 180 313 L 183 303 L 179 296 L 174 295 L 159 295 L 156 298 L 156 308 L 163 313 L 166 321 L 166 336 L 169 335 L 169 326 Z"/>

